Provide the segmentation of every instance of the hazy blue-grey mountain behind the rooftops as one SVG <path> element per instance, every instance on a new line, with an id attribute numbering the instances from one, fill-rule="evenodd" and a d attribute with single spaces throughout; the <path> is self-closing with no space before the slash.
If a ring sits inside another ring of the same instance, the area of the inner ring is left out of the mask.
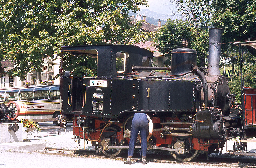
<path id="1" fill-rule="evenodd" d="M 141 16 L 145 14 L 145 16 L 147 16 L 147 23 L 157 25 L 157 26 L 158 26 L 159 19 L 161 21 L 161 25 L 164 25 L 166 23 L 166 19 L 173 18 L 172 16 L 169 16 L 167 14 L 156 13 L 149 9 L 140 9 L 140 11 L 137 11 L 136 13 L 129 11 L 129 16 L 135 15 L 135 18 L 136 18 L 136 14 L 140 14 Z"/>

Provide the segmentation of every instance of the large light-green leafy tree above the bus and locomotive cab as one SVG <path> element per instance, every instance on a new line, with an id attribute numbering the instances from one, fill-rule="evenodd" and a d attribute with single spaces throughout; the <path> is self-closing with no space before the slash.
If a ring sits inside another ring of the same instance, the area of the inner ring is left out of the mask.
<path id="1" fill-rule="evenodd" d="M 128 43 L 145 40 L 146 33 L 128 25 L 128 10 L 138 11 L 146 0 L 2 0 L 0 2 L 0 58 L 17 66 L 9 71 L 22 80 L 40 72 L 42 57 L 58 56 L 60 46 Z M 103 29 L 97 29 L 103 25 Z M 122 40 L 126 38 L 128 40 Z M 73 58 L 73 57 L 72 57 Z M 73 70 L 85 58 L 67 58 Z M 82 74 L 91 74 L 95 61 L 86 60 Z M 82 64 L 82 63 L 81 63 Z M 89 66 L 86 68 L 86 66 Z M 74 71 L 78 71 L 75 69 Z"/>

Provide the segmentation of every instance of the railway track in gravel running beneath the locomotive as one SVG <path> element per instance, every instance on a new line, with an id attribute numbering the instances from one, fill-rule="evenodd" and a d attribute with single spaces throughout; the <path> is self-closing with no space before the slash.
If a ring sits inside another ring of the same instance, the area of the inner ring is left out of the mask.
<path id="1" fill-rule="evenodd" d="M 74 156 L 74 157 L 89 157 L 89 158 L 102 158 L 125 161 L 127 152 L 122 153 L 119 157 L 110 158 L 101 153 L 96 153 L 94 150 L 69 150 L 46 147 L 41 153 Z M 132 162 L 140 162 L 140 153 L 135 153 Z M 209 161 L 206 160 L 204 154 L 193 162 L 178 162 L 172 158 L 170 154 L 155 154 L 147 153 L 147 161 L 155 163 L 175 163 L 187 165 L 201 165 L 201 166 L 216 166 L 216 167 L 249 167 L 256 168 L 256 157 L 251 156 L 235 156 L 228 153 L 220 155 L 210 155 Z"/>

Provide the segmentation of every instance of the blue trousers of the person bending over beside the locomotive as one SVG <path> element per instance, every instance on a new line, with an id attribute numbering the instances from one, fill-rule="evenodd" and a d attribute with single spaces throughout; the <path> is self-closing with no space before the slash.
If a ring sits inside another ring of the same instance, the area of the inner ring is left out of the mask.
<path id="1" fill-rule="evenodd" d="M 140 131 L 141 151 L 140 155 L 146 156 L 147 152 L 147 136 L 149 134 L 149 121 L 144 113 L 135 113 L 132 119 L 131 137 L 129 142 L 128 156 L 133 156 L 134 147 Z"/>

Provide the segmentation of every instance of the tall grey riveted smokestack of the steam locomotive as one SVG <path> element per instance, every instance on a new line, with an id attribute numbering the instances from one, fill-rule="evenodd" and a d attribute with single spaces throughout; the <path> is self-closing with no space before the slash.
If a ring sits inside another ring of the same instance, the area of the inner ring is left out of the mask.
<path id="1" fill-rule="evenodd" d="M 219 60 L 221 56 L 221 41 L 223 29 L 210 28 L 209 29 L 209 65 L 208 76 L 221 75 L 219 72 Z"/>

